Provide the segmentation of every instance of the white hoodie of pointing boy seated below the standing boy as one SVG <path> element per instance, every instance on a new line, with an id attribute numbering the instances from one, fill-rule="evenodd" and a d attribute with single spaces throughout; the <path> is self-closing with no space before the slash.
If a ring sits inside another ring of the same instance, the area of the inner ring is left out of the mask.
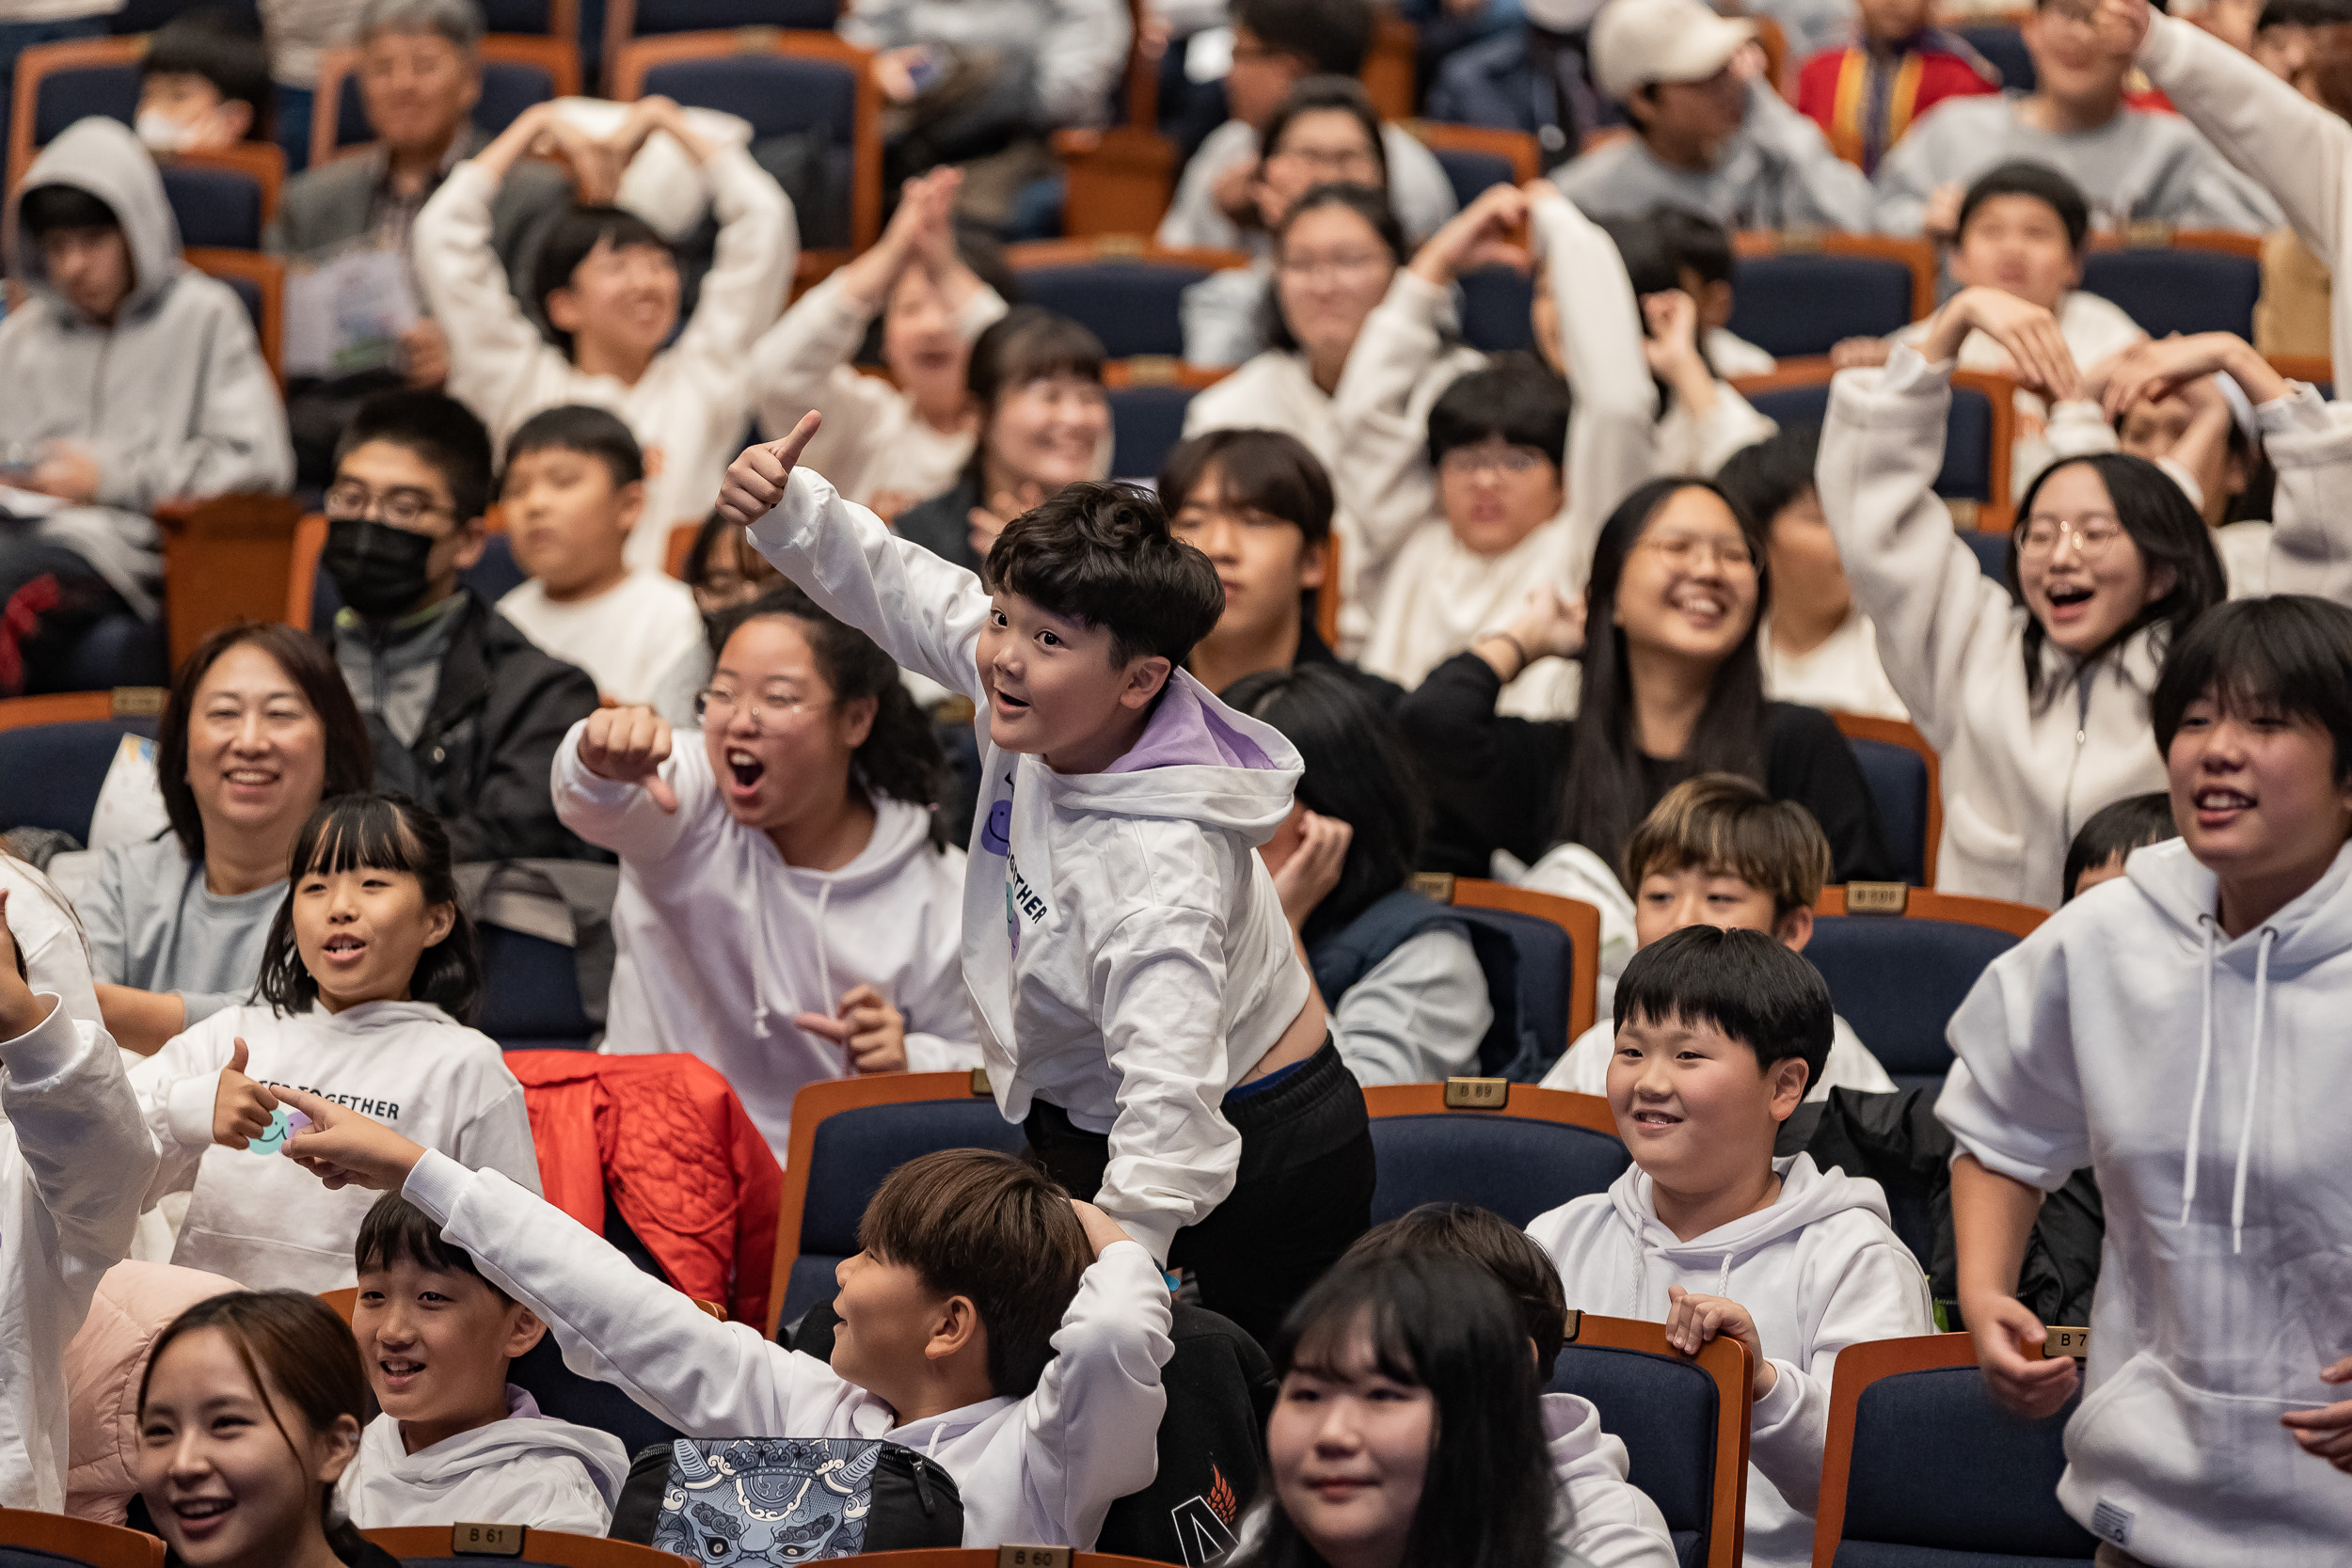
<path id="1" fill-rule="evenodd" d="M 564 1366 L 600 1378 L 687 1436 L 887 1436 L 955 1476 L 964 1544 L 1087 1552 L 1103 1514 L 1160 1467 L 1169 1293 L 1131 1241 L 1103 1248 L 1025 1399 L 1009 1394 L 898 1425 L 816 1356 L 720 1324 L 602 1237 L 496 1171 L 416 1161 L 405 1197 L 482 1276 L 546 1321 Z"/>

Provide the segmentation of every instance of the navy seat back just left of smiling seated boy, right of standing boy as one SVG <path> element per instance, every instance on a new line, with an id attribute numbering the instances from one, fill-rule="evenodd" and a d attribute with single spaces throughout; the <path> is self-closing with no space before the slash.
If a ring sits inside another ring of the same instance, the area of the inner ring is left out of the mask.
<path id="1" fill-rule="evenodd" d="M 1371 1222 L 1421 1204 L 1477 1204 L 1512 1225 L 1569 1199 L 1606 1192 L 1632 1154 L 1597 1095 L 1510 1084 L 1496 1110 L 1456 1110 L 1465 1084 L 1381 1084 L 1364 1091 L 1378 1171 Z"/>

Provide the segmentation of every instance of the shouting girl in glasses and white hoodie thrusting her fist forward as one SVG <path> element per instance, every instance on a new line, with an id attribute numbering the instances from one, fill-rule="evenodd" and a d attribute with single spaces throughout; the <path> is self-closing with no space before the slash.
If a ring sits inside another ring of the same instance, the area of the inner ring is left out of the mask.
<path id="1" fill-rule="evenodd" d="M 793 1095 L 978 1067 L 964 851 L 898 668 L 790 583 L 715 630 L 701 736 L 607 708 L 555 755 L 555 813 L 621 856 L 607 1051 L 691 1051 L 783 1161 Z"/>

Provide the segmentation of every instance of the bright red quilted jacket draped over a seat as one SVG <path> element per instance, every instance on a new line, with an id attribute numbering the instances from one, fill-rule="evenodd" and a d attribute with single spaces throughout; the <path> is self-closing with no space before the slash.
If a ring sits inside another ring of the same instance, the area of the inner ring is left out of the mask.
<path id="1" fill-rule="evenodd" d="M 734 1088 L 684 1056 L 508 1051 L 539 1185 L 604 1234 L 604 1194 L 687 1295 L 767 1328 L 783 1168 Z"/>

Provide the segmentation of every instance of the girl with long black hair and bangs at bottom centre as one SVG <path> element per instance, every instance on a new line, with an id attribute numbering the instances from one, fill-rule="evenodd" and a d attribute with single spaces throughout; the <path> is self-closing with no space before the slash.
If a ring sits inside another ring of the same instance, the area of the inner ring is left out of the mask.
<path id="1" fill-rule="evenodd" d="M 1268 1486 L 1232 1568 L 1583 1566 L 1552 1540 L 1534 1345 L 1486 1269 L 1341 1262 L 1272 1352 Z"/>

